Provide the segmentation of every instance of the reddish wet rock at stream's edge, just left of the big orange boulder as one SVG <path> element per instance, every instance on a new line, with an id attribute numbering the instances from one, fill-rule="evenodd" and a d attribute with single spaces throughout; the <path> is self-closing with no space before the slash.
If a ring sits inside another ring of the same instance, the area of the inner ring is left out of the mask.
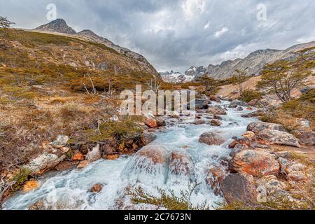
<path id="1" fill-rule="evenodd" d="M 205 181 L 207 186 L 209 186 L 209 188 L 214 191 L 215 195 L 220 194 L 220 185 L 223 179 L 225 179 L 226 174 L 226 170 L 218 165 L 211 165 L 211 167 L 207 170 Z"/>

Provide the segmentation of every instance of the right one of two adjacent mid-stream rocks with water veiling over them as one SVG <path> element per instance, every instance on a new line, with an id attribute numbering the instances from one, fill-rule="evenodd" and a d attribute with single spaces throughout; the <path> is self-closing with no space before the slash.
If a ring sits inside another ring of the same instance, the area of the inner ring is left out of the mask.
<path id="1" fill-rule="evenodd" d="M 169 173 L 189 176 L 193 174 L 193 160 L 185 152 L 174 151 L 169 158 Z"/>

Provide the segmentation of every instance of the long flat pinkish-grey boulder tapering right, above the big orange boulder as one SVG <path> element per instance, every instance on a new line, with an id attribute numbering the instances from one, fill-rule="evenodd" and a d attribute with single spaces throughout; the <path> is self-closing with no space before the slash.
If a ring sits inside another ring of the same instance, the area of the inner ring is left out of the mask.
<path id="1" fill-rule="evenodd" d="M 262 130 L 258 133 L 257 137 L 268 141 L 270 144 L 300 147 L 298 139 L 288 132 Z"/>

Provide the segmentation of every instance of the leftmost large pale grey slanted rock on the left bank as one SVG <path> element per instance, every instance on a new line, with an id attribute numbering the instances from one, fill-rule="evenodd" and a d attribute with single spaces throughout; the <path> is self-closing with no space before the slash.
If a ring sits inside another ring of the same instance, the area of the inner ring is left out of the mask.
<path id="1" fill-rule="evenodd" d="M 59 162 L 62 162 L 66 158 L 66 155 L 62 155 L 58 158 L 57 155 L 50 153 L 43 153 L 34 160 L 31 160 L 25 168 L 30 169 L 34 173 L 40 173 L 41 170 L 53 169 Z"/>

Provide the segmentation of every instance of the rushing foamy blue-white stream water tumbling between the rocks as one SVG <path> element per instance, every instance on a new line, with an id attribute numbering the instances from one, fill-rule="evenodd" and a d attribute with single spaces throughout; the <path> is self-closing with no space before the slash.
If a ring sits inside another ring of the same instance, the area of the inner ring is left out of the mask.
<path id="1" fill-rule="evenodd" d="M 228 102 L 223 102 L 224 104 Z M 181 123 L 157 133 L 158 138 L 150 145 L 162 146 L 167 153 L 186 151 L 193 160 L 193 177 L 170 174 L 166 165 L 155 167 L 155 172 L 151 173 L 139 170 L 135 165 L 137 155 L 123 156 L 118 160 L 99 160 L 85 169 L 52 172 L 43 176 L 39 179 L 41 188 L 27 194 L 17 193 L 3 204 L 3 209 L 28 209 L 38 200 L 43 201 L 48 209 L 128 209 L 132 204 L 126 196 L 127 188 L 141 186 L 153 195 L 158 195 L 157 188 L 161 188 L 174 190 L 174 193 L 179 195 L 181 190 L 188 189 L 190 181 L 200 183 L 192 195 L 191 202 L 200 204 L 207 200 L 209 207 L 212 207 L 215 202 L 221 202 L 223 199 L 214 195 L 207 186 L 204 181 L 206 171 L 210 165 L 220 163 L 221 158 L 229 156 L 228 144 L 232 137 L 240 137 L 246 132 L 248 123 L 255 120 L 241 118 L 241 114 L 248 112 L 251 111 L 228 109 L 228 115 L 222 116 L 224 120 L 221 127 L 192 125 L 190 122 L 194 118 L 183 118 Z M 212 130 L 221 130 L 229 140 L 221 146 L 198 143 L 202 133 Z M 89 192 L 95 183 L 104 185 L 101 193 Z"/>

